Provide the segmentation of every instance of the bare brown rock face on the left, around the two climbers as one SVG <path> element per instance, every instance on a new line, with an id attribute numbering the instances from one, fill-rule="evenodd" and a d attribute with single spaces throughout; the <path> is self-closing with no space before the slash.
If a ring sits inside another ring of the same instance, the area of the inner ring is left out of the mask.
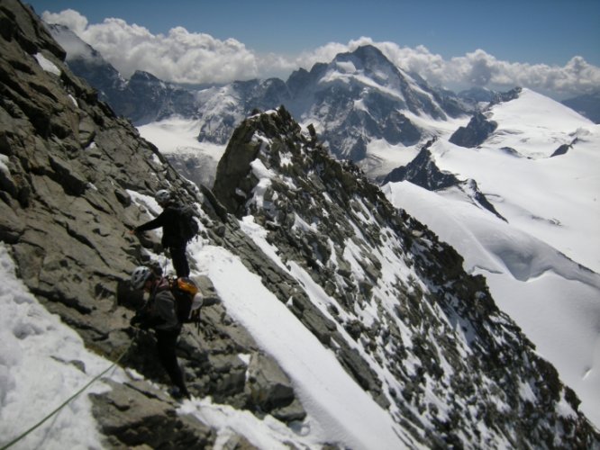
<path id="1" fill-rule="evenodd" d="M 156 238 L 138 241 L 129 233 L 149 217 L 141 196 L 168 188 L 195 204 L 208 242 L 233 239 L 249 254 L 255 248 L 243 235 L 232 238 L 239 227 L 212 193 L 203 188 L 203 195 L 178 175 L 129 121 L 116 117 L 70 72 L 64 58 L 28 7 L 16 0 L 0 3 L 0 239 L 38 300 L 77 330 L 89 349 L 114 360 L 133 338 L 135 298 L 118 304 L 118 286 L 150 260 L 149 250 L 160 250 Z M 210 280 L 198 281 L 205 295 L 217 295 Z M 153 346 L 151 333 L 141 332 L 122 364 L 164 382 L 149 351 Z M 284 422 L 305 416 L 286 374 L 222 304 L 205 308 L 198 331 L 185 329 L 179 350 L 193 394 Z M 247 378 L 249 365 L 254 375 Z M 155 391 L 131 380 L 95 396 L 107 446 L 214 444 L 211 428 L 177 415 L 176 405 Z M 165 432 L 158 437 L 157 429 Z"/>

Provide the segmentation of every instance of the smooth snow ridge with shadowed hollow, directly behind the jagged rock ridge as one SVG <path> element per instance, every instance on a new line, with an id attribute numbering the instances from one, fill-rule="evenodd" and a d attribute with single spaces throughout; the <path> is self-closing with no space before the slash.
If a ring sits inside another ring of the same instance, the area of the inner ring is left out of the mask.
<path id="1" fill-rule="evenodd" d="M 559 370 L 600 424 L 600 275 L 463 196 L 432 193 L 407 182 L 386 184 L 386 196 L 465 258 L 465 269 L 486 276 L 498 307 L 511 316 Z"/>

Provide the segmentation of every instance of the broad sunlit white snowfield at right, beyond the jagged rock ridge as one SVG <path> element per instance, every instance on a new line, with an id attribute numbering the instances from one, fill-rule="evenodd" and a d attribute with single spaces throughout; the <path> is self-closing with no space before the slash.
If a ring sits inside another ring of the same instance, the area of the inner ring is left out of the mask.
<path id="1" fill-rule="evenodd" d="M 526 89 L 487 115 L 499 126 L 480 148 L 442 135 L 430 150 L 442 170 L 475 179 L 507 222 L 458 188 L 402 182 L 384 191 L 486 276 L 498 306 L 600 427 L 600 127 Z M 572 144 L 567 154 L 550 157 L 562 144 Z"/>

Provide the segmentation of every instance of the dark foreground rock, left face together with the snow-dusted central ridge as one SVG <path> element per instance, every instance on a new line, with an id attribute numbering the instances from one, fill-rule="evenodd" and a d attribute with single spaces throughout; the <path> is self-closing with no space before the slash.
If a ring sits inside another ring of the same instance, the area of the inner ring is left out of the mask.
<path id="1" fill-rule="evenodd" d="M 0 238 L 38 301 L 131 375 L 90 396 L 103 446 L 255 448 L 251 430 L 219 434 L 170 400 L 145 351 L 154 338 L 129 325 L 141 299 L 126 282 L 161 251 L 156 235 L 129 230 L 157 214 L 148 199 L 159 189 L 195 206 L 205 245 L 258 275 L 377 403 L 399 443 L 599 445 L 577 396 L 496 308 L 484 278 L 357 166 L 333 159 L 313 127 L 283 107 L 256 112 L 233 132 L 214 189 L 196 186 L 72 74 L 31 9 L 3 0 L 0 25 Z M 305 448 L 294 437 L 307 397 L 194 269 L 212 305 L 178 346 L 190 391 L 288 429 L 281 446 Z M 343 448 L 339 438 L 318 446 Z"/>

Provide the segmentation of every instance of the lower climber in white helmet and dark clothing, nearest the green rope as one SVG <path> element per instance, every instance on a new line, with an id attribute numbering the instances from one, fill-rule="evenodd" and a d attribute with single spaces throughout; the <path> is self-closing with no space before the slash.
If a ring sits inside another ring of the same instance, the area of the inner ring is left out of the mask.
<path id="1" fill-rule="evenodd" d="M 134 290 L 143 289 L 150 293 L 148 302 L 132 318 L 132 326 L 154 329 L 160 363 L 174 385 L 169 393 L 176 399 L 189 399 L 184 376 L 177 362 L 176 346 L 181 323 L 177 320 L 175 297 L 170 291 L 168 280 L 155 274 L 149 267 L 139 266 L 132 272 L 131 284 Z"/>

